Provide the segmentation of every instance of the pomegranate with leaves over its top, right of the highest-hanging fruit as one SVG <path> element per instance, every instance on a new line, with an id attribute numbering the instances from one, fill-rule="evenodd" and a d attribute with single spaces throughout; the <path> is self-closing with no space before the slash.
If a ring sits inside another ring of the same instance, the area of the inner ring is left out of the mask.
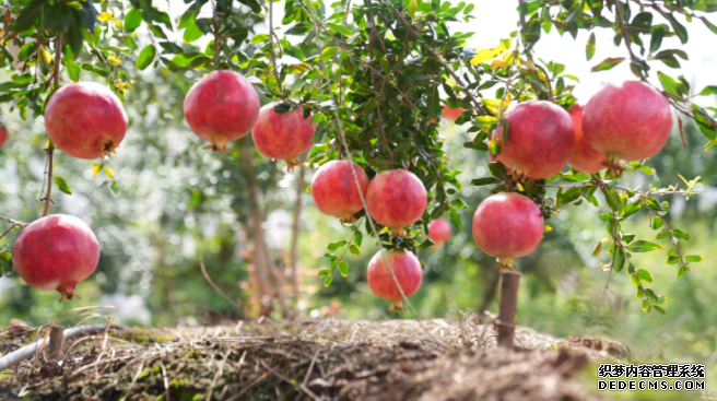
<path id="1" fill-rule="evenodd" d="M 312 116 L 304 118 L 303 107 L 289 113 L 277 113 L 277 105 L 274 102 L 261 107 L 251 138 L 259 153 L 286 161 L 291 172 L 302 164 L 296 157 L 312 148 L 316 125 L 312 123 Z"/>

